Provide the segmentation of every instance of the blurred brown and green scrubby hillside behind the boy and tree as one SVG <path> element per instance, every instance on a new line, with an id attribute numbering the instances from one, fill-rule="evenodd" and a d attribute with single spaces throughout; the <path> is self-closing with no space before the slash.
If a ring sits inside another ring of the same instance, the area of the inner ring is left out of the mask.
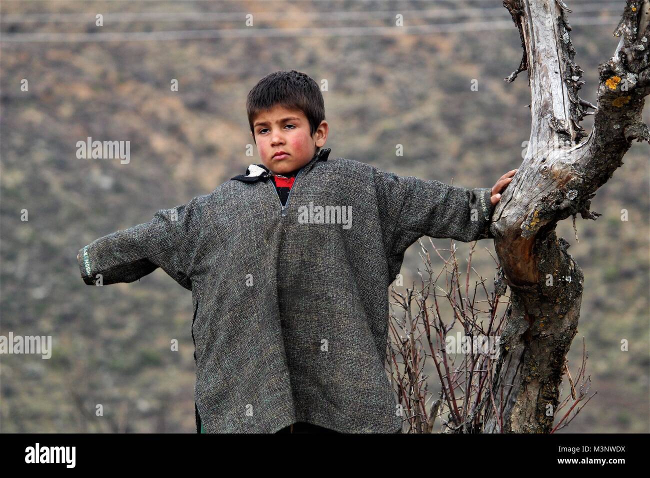
<path id="1" fill-rule="evenodd" d="M 595 103 L 597 65 L 614 52 L 611 33 L 624 3 L 566 3 L 575 12 L 569 22 L 611 18 L 571 22 L 585 72 L 580 96 Z M 337 30 L 389 27 L 395 12 L 405 25 L 459 31 Z M 52 335 L 54 346 L 50 360 L 1 358 L 3 432 L 194 432 L 190 293 L 160 269 L 133 284 L 88 287 L 76 254 L 260 163 L 254 146 L 254 157 L 246 155 L 245 101 L 266 74 L 296 69 L 326 80 L 331 157 L 404 176 L 491 187 L 519 166 L 530 134 L 526 72 L 503 81 L 522 51 L 499 0 L 5 1 L 1 13 L 0 334 Z M 248 29 L 247 13 L 255 18 Z M 276 36 L 293 27 L 322 30 Z M 269 33 L 252 33 L 263 29 Z M 162 33 L 198 30 L 235 36 L 170 40 Z M 151 36 L 129 36 L 138 33 Z M 650 125 L 650 107 L 643 113 Z M 582 126 L 589 131 L 591 118 Z M 77 159 L 76 143 L 86 137 L 129 140 L 130 163 Z M 396 144 L 404 156 L 396 157 Z M 632 145 L 592 200 L 602 216 L 578 217 L 579 243 L 570 221 L 558 227 L 585 276 L 569 365 L 573 372 L 584 336 L 591 392 L 598 392 L 564 431 L 649 431 L 649 157 L 650 145 Z M 466 252 L 470 245 L 457 246 Z M 485 248 L 495 256 L 493 244 L 476 248 L 474 268 L 491 291 L 495 264 Z M 406 255 L 405 285 L 418 277 L 418 249 Z M 170 352 L 172 339 L 179 352 Z M 629 352 L 621 352 L 622 339 Z M 94 413 L 99 403 L 103 418 Z"/>

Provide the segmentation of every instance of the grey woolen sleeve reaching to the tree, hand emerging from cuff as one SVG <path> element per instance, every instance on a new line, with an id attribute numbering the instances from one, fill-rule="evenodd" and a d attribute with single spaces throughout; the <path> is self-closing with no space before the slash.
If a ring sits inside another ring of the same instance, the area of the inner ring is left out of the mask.
<path id="1" fill-rule="evenodd" d="M 374 168 L 385 245 L 404 251 L 423 235 L 463 243 L 493 238 L 491 188 L 467 189 Z"/>

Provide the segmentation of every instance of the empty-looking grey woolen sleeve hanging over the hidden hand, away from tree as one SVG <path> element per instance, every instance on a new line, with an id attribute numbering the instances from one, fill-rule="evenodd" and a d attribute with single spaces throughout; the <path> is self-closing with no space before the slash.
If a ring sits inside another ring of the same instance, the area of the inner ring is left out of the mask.
<path id="1" fill-rule="evenodd" d="M 81 278 L 93 285 L 133 282 L 161 267 L 185 289 L 192 290 L 191 261 L 200 232 L 201 202 L 197 196 L 187 204 L 161 209 L 153 219 L 119 230 L 79 250 Z"/>

